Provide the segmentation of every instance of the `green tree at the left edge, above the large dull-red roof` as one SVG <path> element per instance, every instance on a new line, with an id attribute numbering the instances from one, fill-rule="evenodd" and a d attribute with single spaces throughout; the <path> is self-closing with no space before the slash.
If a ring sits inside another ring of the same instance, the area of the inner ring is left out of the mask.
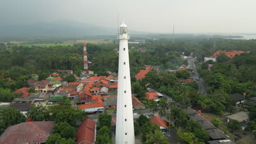
<path id="1" fill-rule="evenodd" d="M 0 107 L 0 118 L 0 134 L 11 125 L 26 122 L 26 117 L 14 107 Z"/>

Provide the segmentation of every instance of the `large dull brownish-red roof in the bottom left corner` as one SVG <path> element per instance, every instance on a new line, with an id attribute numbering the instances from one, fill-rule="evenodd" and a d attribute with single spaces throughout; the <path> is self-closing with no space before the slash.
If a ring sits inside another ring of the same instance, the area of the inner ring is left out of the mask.
<path id="1" fill-rule="evenodd" d="M 24 144 L 45 143 L 50 135 L 53 135 L 54 122 L 24 122 L 11 125 L 5 129 L 0 137 L 0 143 Z"/>

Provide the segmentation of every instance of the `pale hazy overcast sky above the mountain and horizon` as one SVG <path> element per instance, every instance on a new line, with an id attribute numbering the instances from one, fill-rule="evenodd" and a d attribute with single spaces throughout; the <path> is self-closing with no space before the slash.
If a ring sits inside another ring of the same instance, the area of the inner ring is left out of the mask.
<path id="1" fill-rule="evenodd" d="M 255 0 L 0 0 L 1 25 L 72 20 L 171 33 L 256 33 Z"/>

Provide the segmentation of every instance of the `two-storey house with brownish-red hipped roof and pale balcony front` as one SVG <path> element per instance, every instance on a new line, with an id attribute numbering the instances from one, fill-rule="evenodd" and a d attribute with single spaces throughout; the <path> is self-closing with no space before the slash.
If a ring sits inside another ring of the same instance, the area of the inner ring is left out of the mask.
<path id="1" fill-rule="evenodd" d="M 34 89 L 36 89 L 38 92 L 53 92 L 55 90 L 55 87 L 53 86 L 53 83 L 50 81 L 42 80 L 34 84 Z"/>

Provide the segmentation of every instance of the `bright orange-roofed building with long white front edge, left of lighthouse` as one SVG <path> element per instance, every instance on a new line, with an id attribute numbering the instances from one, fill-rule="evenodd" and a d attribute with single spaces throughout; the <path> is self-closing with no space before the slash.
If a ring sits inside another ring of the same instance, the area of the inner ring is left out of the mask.
<path id="1" fill-rule="evenodd" d="M 77 105 L 79 110 L 86 111 L 87 113 L 103 112 L 105 110 L 101 95 L 91 95 L 88 96 L 88 98 L 89 99 L 84 102 L 85 104 Z"/>

